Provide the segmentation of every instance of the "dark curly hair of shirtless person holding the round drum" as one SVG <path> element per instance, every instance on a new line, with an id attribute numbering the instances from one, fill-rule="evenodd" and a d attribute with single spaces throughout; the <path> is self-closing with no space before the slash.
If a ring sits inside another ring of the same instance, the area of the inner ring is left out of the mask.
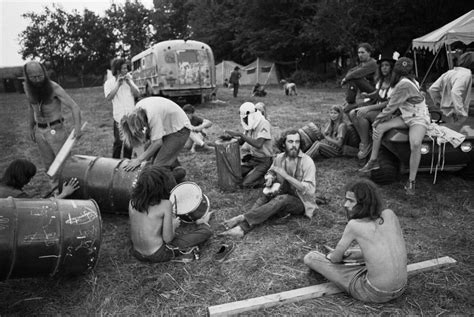
<path id="1" fill-rule="evenodd" d="M 170 192 L 175 185 L 173 175 L 168 169 L 156 165 L 145 166 L 132 189 L 130 204 L 137 211 L 148 214 L 149 207 L 170 198 Z"/>

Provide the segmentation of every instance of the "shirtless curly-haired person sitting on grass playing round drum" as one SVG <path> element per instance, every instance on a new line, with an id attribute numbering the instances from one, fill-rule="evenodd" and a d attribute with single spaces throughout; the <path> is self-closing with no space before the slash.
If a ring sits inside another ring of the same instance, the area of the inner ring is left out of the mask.
<path id="1" fill-rule="evenodd" d="M 190 254 L 185 253 L 187 249 L 212 236 L 208 223 L 212 213 L 196 221 L 196 230 L 176 234 L 180 220 L 173 214 L 169 201 L 175 185 L 171 172 L 156 165 L 145 166 L 138 175 L 132 189 L 129 216 L 133 255 L 140 261 L 167 262 L 175 257 L 184 260 L 183 257 Z"/>

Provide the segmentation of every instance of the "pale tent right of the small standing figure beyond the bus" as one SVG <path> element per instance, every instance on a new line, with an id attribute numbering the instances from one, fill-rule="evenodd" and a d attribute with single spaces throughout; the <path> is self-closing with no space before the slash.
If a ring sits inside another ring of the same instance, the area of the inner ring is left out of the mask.
<path id="1" fill-rule="evenodd" d="M 240 78 L 241 85 L 278 85 L 277 66 L 273 62 L 257 58 L 255 61 L 245 66 Z"/>

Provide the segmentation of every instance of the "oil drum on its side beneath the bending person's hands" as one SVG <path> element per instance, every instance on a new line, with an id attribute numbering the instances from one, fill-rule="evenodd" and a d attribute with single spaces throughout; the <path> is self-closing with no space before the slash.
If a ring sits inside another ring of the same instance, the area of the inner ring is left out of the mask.
<path id="1" fill-rule="evenodd" d="M 141 167 L 126 172 L 127 160 L 74 155 L 64 163 L 59 184 L 77 178 L 80 188 L 68 198 L 94 199 L 102 212 L 128 214 L 128 202 Z"/>

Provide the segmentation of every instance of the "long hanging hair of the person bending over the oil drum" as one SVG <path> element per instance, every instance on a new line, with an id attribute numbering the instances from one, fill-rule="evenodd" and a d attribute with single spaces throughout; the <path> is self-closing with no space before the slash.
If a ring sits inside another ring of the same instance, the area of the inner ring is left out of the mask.
<path id="1" fill-rule="evenodd" d="M 142 144 L 150 136 L 150 127 L 148 126 L 145 109 L 135 108 L 133 112 L 125 115 L 120 120 L 120 129 L 128 146 L 134 147 Z"/>

